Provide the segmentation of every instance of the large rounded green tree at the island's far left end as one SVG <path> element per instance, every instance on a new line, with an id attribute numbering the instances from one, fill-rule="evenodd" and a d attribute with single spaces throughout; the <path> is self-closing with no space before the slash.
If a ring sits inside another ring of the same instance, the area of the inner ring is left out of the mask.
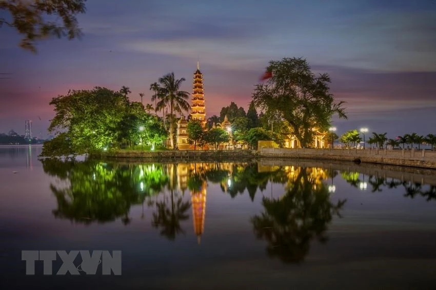
<path id="1" fill-rule="evenodd" d="M 127 97 L 120 92 L 95 87 L 93 90 L 69 91 L 67 95 L 53 98 L 55 116 L 48 131 L 58 135 L 55 142 L 65 142 L 70 154 L 84 154 L 101 150 L 118 139 L 119 123 L 129 105 Z M 49 148 L 48 143 L 45 154 Z M 63 151 L 66 153 L 66 151 Z"/>

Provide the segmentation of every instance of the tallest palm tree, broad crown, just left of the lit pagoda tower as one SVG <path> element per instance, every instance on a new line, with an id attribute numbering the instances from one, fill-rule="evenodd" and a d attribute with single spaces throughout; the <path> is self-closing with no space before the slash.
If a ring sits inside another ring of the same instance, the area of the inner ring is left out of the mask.
<path id="1" fill-rule="evenodd" d="M 188 101 L 189 93 L 186 91 L 181 91 L 180 87 L 185 78 L 175 79 L 174 73 L 169 73 L 163 77 L 159 78 L 159 82 L 162 85 L 161 89 L 161 100 L 157 103 L 157 108 L 164 108 L 164 106 L 170 107 L 170 141 L 171 148 L 174 148 L 174 126 L 173 126 L 173 114 L 174 112 L 182 113 L 182 111 L 188 111 L 191 106 L 189 106 Z"/>

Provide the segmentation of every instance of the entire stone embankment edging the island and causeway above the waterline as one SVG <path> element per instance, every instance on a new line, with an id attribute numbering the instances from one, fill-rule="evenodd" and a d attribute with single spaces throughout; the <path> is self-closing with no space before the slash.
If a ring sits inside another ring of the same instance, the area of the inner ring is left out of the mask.
<path id="1" fill-rule="evenodd" d="M 136 159 L 138 161 L 250 161 L 259 158 L 275 160 L 314 159 L 378 163 L 415 168 L 436 169 L 436 152 L 425 150 L 353 150 L 353 149 L 290 149 L 262 148 L 254 150 L 168 150 L 156 152 L 114 151 L 94 157 L 109 159 Z"/>

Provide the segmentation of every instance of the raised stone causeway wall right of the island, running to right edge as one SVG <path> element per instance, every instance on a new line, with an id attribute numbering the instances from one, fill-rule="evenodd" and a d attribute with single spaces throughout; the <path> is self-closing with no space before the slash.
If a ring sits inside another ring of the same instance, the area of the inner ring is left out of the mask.
<path id="1" fill-rule="evenodd" d="M 260 157 L 288 159 L 318 159 L 378 163 L 417 168 L 436 169 L 436 152 L 426 150 L 378 150 L 378 149 L 289 149 L 262 148 Z"/>

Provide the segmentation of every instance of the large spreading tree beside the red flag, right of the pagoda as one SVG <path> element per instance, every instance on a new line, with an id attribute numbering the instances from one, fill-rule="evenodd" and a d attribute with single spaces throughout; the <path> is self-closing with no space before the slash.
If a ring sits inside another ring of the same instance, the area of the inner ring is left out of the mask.
<path id="1" fill-rule="evenodd" d="M 266 70 L 272 77 L 255 86 L 254 104 L 288 121 L 303 148 L 312 142 L 314 127 L 326 131 L 334 114 L 347 118 L 344 102 L 335 103 L 329 92 L 328 74 L 315 76 L 306 59 L 270 61 Z"/>

